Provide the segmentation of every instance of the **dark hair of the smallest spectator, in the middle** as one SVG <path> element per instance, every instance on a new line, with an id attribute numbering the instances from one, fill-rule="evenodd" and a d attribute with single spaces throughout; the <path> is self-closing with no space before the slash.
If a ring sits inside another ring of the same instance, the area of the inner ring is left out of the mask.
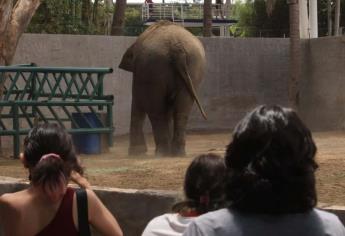
<path id="1" fill-rule="evenodd" d="M 189 165 L 184 180 L 186 200 L 173 206 L 174 212 L 195 209 L 198 214 L 217 210 L 225 205 L 225 163 L 216 154 L 197 156 Z"/>

